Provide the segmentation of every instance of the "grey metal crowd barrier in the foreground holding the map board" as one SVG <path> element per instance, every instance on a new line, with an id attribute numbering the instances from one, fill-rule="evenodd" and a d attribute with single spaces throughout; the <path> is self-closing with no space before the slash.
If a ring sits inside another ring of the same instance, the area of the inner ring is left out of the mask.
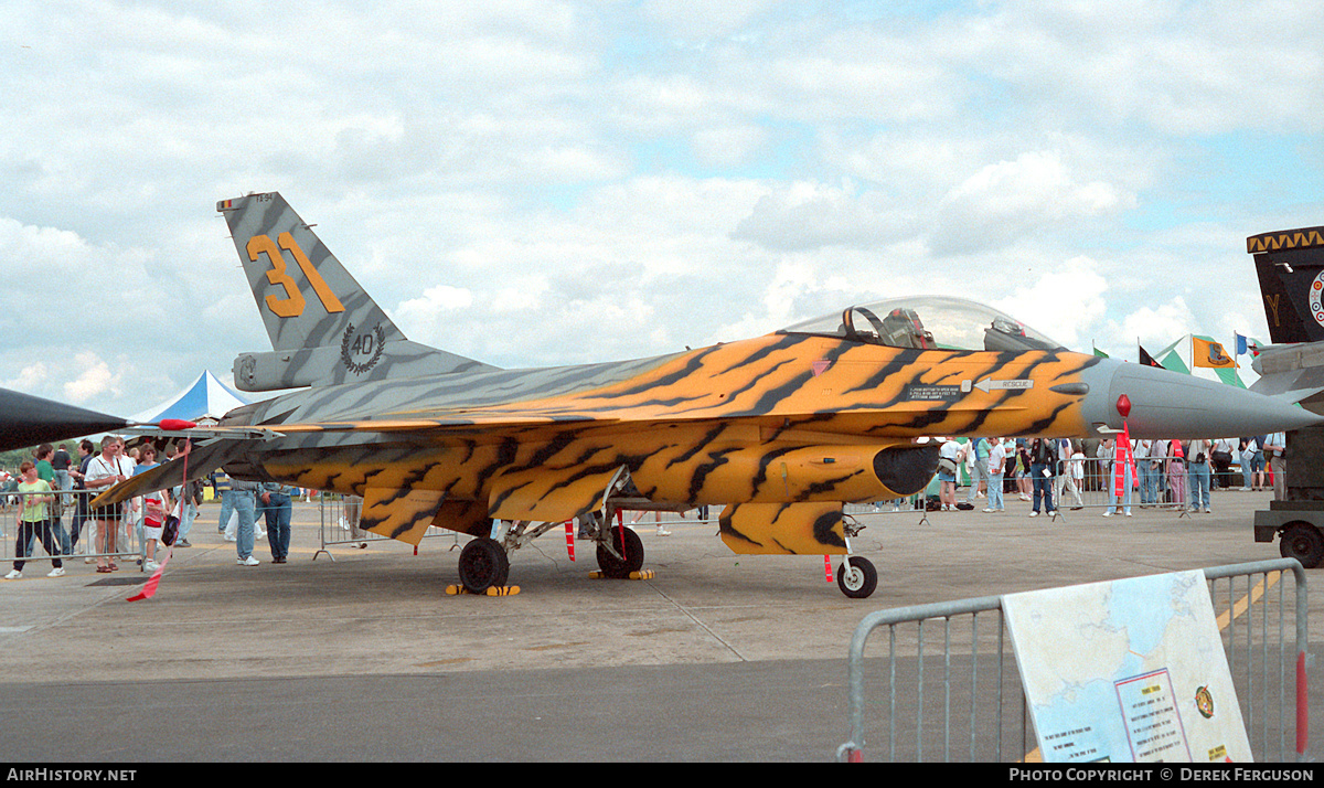
<path id="1" fill-rule="evenodd" d="M 1305 760 L 1305 571 L 1276 559 L 1204 572 L 1255 760 Z M 865 646 L 883 628 L 886 658 L 866 661 Z M 1041 760 L 1005 630 L 1000 596 L 866 616 L 850 644 L 850 738 L 837 760 L 863 760 L 866 751 L 891 762 Z"/>

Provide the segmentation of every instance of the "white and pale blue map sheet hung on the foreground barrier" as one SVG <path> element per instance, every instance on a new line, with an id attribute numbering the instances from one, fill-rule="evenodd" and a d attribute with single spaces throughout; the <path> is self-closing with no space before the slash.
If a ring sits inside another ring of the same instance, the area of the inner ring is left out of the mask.
<path id="1" fill-rule="evenodd" d="M 1002 597 L 1045 762 L 1249 762 L 1201 571 Z"/>

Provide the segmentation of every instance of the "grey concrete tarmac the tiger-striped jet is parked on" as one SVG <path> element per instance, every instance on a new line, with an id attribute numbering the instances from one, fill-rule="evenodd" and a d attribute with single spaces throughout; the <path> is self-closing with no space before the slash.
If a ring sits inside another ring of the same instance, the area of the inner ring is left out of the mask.
<path id="1" fill-rule="evenodd" d="M 258 539 L 262 564 L 241 567 L 207 505 L 151 600 L 126 601 L 147 579 L 132 560 L 99 575 L 73 559 L 60 579 L 33 560 L 0 583 L 0 715 L 17 723 L 0 755 L 824 762 L 849 735 L 846 654 L 866 613 L 1274 559 L 1251 531 L 1270 498 L 1217 490 L 1211 514 L 1185 517 L 1029 518 L 1014 495 L 1000 514 L 863 515 L 855 548 L 880 575 L 869 600 L 829 584 L 822 556 L 739 556 L 715 523 L 659 536 L 653 515 L 636 526 L 650 580 L 589 579 L 592 543 L 576 542 L 572 562 L 556 530 L 512 554 L 518 596 L 448 596 L 454 538 L 417 555 L 339 544 L 314 560 L 315 503 L 295 506 L 290 563 L 271 564 Z M 1316 593 L 1315 640 L 1321 605 Z"/>

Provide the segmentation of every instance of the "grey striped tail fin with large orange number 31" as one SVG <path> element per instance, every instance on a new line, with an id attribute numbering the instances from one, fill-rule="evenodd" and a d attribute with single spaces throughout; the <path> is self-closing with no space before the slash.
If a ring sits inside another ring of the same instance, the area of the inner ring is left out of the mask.
<path id="1" fill-rule="evenodd" d="M 278 192 L 221 200 L 274 352 L 234 363 L 242 391 L 491 369 L 405 339 Z"/>

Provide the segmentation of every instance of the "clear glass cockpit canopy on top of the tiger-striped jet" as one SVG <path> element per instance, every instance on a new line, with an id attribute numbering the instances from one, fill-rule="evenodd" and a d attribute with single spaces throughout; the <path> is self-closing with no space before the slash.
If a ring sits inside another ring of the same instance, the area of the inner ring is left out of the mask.
<path id="1" fill-rule="evenodd" d="M 1057 350 L 1025 323 L 974 301 L 916 295 L 851 306 L 779 334 L 820 334 L 869 344 L 944 350 Z"/>

